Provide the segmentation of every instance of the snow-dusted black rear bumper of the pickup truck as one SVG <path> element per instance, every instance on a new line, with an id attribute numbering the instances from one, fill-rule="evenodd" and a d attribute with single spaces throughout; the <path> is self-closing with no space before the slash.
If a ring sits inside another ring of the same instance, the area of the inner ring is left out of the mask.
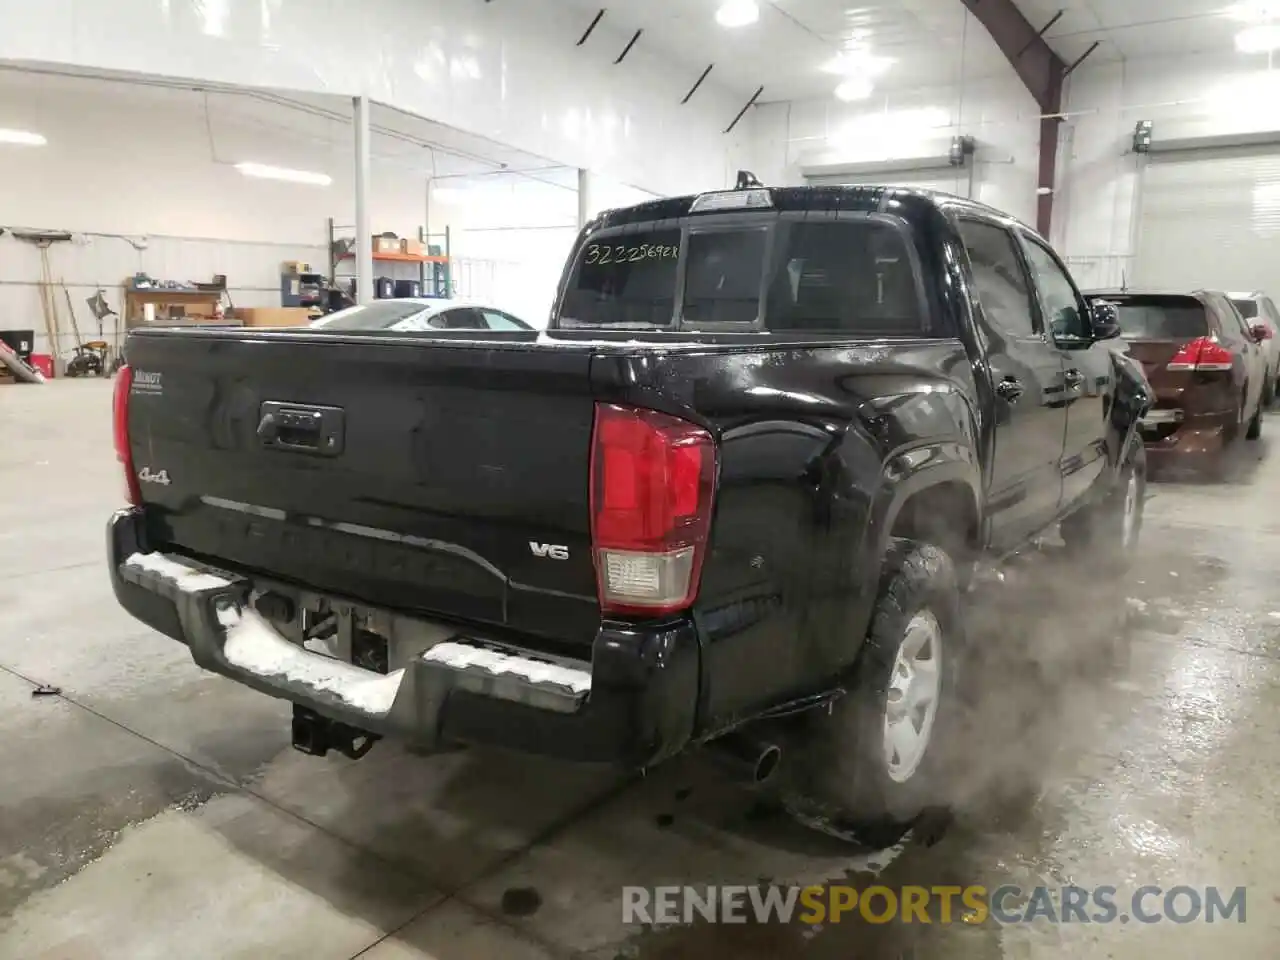
<path id="1" fill-rule="evenodd" d="M 417 750 L 489 744 L 641 768 L 694 732 L 700 655 L 685 618 L 604 622 L 590 663 L 460 632 L 384 675 L 288 640 L 250 605 L 251 577 L 152 553 L 138 509 L 111 517 L 108 557 L 119 603 L 205 669 Z"/>

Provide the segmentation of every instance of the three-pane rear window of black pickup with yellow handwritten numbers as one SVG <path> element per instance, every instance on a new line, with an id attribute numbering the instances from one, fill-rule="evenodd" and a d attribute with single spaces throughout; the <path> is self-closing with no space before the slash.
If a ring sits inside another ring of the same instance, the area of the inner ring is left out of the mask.
<path id="1" fill-rule="evenodd" d="M 559 324 L 671 328 L 677 314 L 686 326 L 745 329 L 763 315 L 769 330 L 881 337 L 924 335 L 927 316 L 906 239 L 891 224 L 753 215 L 726 228 L 593 239 L 570 274 Z"/>

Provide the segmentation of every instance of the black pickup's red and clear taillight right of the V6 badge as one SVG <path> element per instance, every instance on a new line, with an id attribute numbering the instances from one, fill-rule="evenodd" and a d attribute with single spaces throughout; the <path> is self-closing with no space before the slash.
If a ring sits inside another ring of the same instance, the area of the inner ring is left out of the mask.
<path id="1" fill-rule="evenodd" d="M 667 413 L 595 404 L 591 545 L 607 613 L 671 613 L 698 595 L 716 443 Z"/>

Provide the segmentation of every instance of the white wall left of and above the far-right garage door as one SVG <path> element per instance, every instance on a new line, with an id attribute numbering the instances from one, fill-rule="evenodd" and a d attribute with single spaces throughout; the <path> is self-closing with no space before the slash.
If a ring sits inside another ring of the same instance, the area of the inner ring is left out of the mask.
<path id="1" fill-rule="evenodd" d="M 1139 228 L 1134 125 L 1152 120 L 1156 138 L 1280 129 L 1280 70 L 1265 56 L 1098 64 L 1071 77 L 1066 111 L 1053 241 L 1082 285 L 1117 287 L 1133 275 Z"/>

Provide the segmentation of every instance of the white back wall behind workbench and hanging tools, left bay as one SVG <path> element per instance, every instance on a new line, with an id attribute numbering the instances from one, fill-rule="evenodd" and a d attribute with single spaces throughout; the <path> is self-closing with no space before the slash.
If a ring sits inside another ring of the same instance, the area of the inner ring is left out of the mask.
<path id="1" fill-rule="evenodd" d="M 332 140 L 315 142 L 292 136 L 287 124 L 247 123 L 215 105 L 206 125 L 189 92 L 95 82 L 32 90 L 0 72 L 0 125 L 49 141 L 0 145 L 0 183 L 8 184 L 0 225 L 76 234 L 51 246 L 49 260 L 54 279 L 69 288 L 82 334 L 96 334 L 84 298 L 101 287 L 123 311 L 120 284 L 140 270 L 166 280 L 227 274 L 237 306 L 279 306 L 280 261 L 326 270 L 326 218 L 355 219 L 353 147 L 342 124 Z M 232 165 L 241 160 L 323 170 L 334 182 L 251 179 Z M 376 163 L 371 204 L 375 229 L 416 236 L 426 178 L 390 159 Z M 38 278 L 36 247 L 0 237 L 0 328 L 35 329 L 46 352 Z M 60 291 L 56 297 L 65 352 L 73 334 L 65 298 Z"/>

